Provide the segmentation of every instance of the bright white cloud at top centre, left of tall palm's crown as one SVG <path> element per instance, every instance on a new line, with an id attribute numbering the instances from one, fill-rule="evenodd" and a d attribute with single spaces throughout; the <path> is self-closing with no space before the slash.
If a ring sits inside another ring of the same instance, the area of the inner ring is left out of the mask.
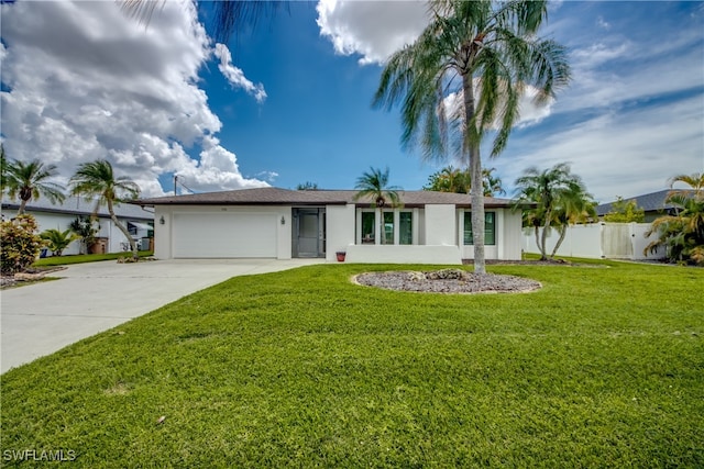
<path id="1" fill-rule="evenodd" d="M 341 55 L 359 54 L 360 64 L 381 64 L 413 43 L 428 24 L 428 7 L 420 1 L 320 0 L 320 34 Z"/>

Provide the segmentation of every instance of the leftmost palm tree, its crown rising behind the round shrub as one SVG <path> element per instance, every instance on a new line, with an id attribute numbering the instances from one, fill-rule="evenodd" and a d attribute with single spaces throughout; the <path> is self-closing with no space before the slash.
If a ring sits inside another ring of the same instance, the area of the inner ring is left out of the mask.
<path id="1" fill-rule="evenodd" d="M 40 159 L 30 163 L 8 161 L 4 165 L 7 167 L 3 170 L 7 174 L 3 183 L 8 188 L 8 196 L 11 199 L 19 196 L 21 201 L 18 215 L 24 213 L 30 200 L 37 200 L 41 196 L 47 198 L 52 203 L 63 202 L 66 199 L 63 186 L 47 181 L 48 178 L 56 176 L 56 165 L 44 165 Z"/>

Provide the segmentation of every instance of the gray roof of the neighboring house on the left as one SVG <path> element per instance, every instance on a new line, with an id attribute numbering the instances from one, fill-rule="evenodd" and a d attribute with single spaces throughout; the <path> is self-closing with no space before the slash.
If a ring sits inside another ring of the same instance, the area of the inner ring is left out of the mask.
<path id="1" fill-rule="evenodd" d="M 7 196 L 2 197 L 2 209 L 18 210 L 20 208 L 20 201 L 18 199 L 10 199 Z M 30 200 L 24 209 L 26 212 L 44 212 L 44 213 L 63 213 L 68 215 L 90 215 L 96 208 L 95 201 L 87 201 L 79 197 L 67 197 L 63 203 L 52 204 L 46 198 L 38 200 Z M 154 220 L 154 213 L 142 210 L 141 206 L 130 203 L 120 203 L 114 205 L 114 213 L 120 219 L 132 220 Z M 110 216 L 106 206 L 98 209 L 98 216 Z"/>

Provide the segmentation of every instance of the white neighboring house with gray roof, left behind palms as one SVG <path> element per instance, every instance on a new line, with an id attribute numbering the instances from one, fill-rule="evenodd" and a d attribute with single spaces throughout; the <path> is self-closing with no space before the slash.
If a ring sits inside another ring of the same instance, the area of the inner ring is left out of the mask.
<path id="1" fill-rule="evenodd" d="M 13 219 L 16 216 L 19 208 L 20 202 L 18 200 L 11 200 L 7 196 L 3 197 L 2 219 Z M 36 219 L 41 233 L 51 228 L 65 231 L 76 220 L 76 216 L 90 216 L 95 208 L 95 202 L 86 201 L 86 199 L 78 197 L 67 197 L 64 203 L 55 205 L 42 198 L 40 200 L 31 200 L 26 204 L 24 212 Z M 114 212 L 118 220 L 130 231 L 130 234 L 140 242 L 142 248 L 148 249 L 148 238 L 153 236 L 154 231 L 154 213 L 128 203 L 116 205 Z M 106 253 L 119 253 L 129 249 L 125 249 L 128 239 L 114 225 L 108 210 L 103 206 L 98 210 L 98 223 L 100 231 L 96 234 L 96 237 L 99 239 L 100 250 L 102 250 L 102 247 L 105 247 Z M 79 254 L 79 252 L 80 243 L 74 242 L 64 250 L 64 255 Z"/>

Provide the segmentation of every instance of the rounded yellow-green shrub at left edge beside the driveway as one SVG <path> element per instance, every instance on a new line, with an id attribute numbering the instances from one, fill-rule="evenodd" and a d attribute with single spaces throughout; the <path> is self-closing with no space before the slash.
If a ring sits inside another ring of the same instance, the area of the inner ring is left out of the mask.
<path id="1" fill-rule="evenodd" d="M 34 216 L 22 214 L 0 224 L 0 270 L 3 275 L 25 270 L 36 260 L 44 241 L 36 234 Z"/>

